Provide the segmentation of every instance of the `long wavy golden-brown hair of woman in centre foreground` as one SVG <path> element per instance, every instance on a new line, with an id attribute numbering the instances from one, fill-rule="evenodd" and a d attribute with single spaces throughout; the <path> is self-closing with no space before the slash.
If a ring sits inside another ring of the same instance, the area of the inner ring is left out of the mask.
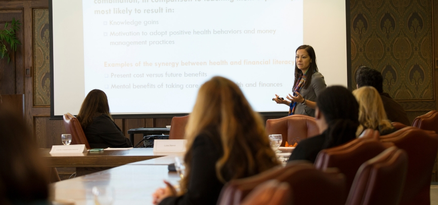
<path id="1" fill-rule="evenodd" d="M 252 176 L 278 165 L 259 115 L 251 109 L 234 82 L 216 76 L 199 89 L 186 127 L 186 175 L 181 180 L 183 192 L 186 191 L 191 177 L 193 141 L 205 131 L 220 135 L 217 141 L 222 144 L 223 156 L 215 166 L 216 177 L 223 183 Z"/>

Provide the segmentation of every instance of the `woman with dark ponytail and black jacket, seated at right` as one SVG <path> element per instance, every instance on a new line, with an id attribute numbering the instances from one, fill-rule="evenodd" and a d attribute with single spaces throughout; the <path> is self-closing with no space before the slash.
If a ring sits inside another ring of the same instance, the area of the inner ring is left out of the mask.
<path id="1" fill-rule="evenodd" d="M 359 126 L 359 104 L 355 96 L 342 86 L 327 87 L 317 100 L 315 121 L 320 135 L 301 140 L 293 150 L 292 160 L 315 162 L 322 149 L 334 147 L 356 138 Z"/>

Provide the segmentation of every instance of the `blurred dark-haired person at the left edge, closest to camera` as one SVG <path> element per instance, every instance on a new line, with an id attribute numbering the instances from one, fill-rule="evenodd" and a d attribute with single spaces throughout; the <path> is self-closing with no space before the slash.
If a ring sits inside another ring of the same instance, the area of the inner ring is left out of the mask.
<path id="1" fill-rule="evenodd" d="M 49 173 L 35 140 L 22 115 L 3 105 L 0 105 L 0 164 L 0 204 L 49 204 Z"/>

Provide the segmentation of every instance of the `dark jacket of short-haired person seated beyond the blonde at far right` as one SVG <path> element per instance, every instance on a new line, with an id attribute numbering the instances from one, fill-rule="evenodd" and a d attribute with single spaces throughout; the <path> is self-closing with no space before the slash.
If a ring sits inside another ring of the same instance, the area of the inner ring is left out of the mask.
<path id="1" fill-rule="evenodd" d="M 411 126 L 408 115 L 396 100 L 392 99 L 391 96 L 389 96 L 389 94 L 386 92 L 380 93 L 380 97 L 382 98 L 383 107 L 385 108 L 388 120 L 391 122 L 400 122 L 407 126 Z"/>

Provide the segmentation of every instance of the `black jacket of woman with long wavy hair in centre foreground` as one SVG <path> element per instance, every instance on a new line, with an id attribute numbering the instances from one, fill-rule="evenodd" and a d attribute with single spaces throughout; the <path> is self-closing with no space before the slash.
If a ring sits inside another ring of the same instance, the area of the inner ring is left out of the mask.
<path id="1" fill-rule="evenodd" d="M 223 155 L 219 136 L 200 134 L 192 145 L 188 191 L 182 196 L 164 198 L 164 204 L 216 204 L 224 186 L 216 177 L 216 161 Z"/>

